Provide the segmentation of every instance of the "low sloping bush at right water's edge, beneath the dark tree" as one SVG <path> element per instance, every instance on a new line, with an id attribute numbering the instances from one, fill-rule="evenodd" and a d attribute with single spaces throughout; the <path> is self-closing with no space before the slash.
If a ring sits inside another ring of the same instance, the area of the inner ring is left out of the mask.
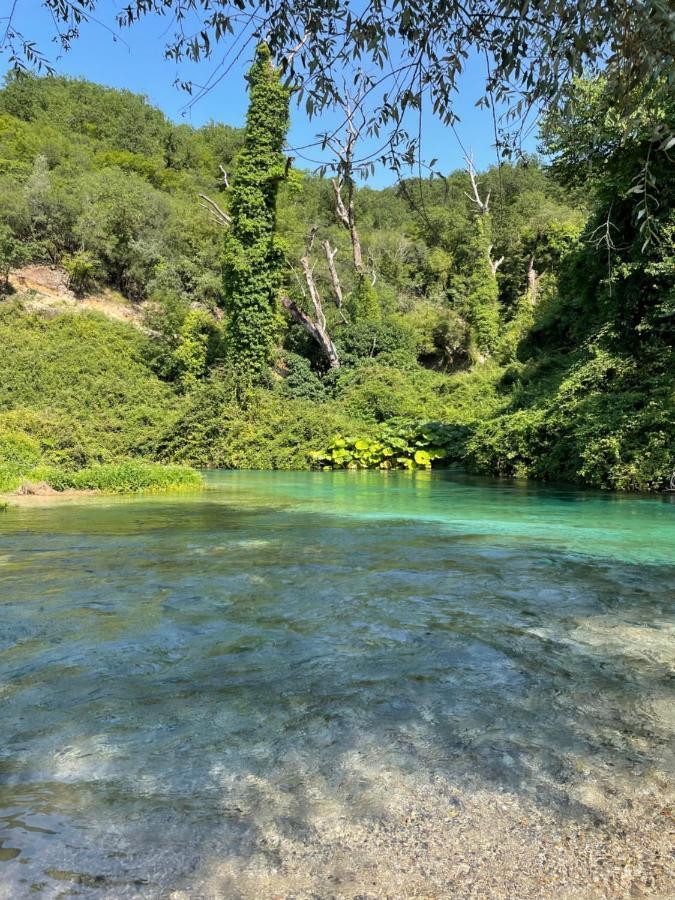
<path id="1" fill-rule="evenodd" d="M 525 408 L 477 425 L 466 462 L 478 472 L 658 490 L 675 465 L 672 377 L 658 359 L 638 370 L 595 345 L 560 371 L 534 368 Z M 513 394 L 515 396 L 515 392 Z"/>

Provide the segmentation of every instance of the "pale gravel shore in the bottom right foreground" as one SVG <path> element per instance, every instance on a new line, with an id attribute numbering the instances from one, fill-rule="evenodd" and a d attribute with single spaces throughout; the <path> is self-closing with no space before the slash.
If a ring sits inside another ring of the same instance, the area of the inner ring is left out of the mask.
<path id="1" fill-rule="evenodd" d="M 580 772 L 564 791 L 548 785 L 555 800 L 543 802 L 542 780 L 540 798 L 529 798 L 439 773 L 370 771 L 361 777 L 365 811 L 354 815 L 359 775 L 362 766 L 344 783 L 348 802 L 337 775 L 315 785 L 302 814 L 278 788 L 251 780 L 251 801 L 268 804 L 255 846 L 213 859 L 172 900 L 675 896 L 665 773 L 618 784 Z M 237 794 L 246 814 L 246 786 Z"/>

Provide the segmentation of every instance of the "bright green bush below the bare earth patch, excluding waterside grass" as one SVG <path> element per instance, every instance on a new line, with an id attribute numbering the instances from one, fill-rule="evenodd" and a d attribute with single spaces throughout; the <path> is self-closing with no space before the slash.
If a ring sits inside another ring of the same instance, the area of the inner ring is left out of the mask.
<path id="1" fill-rule="evenodd" d="M 132 326 L 93 313 L 0 308 L 0 429 L 27 434 L 66 468 L 152 456 L 179 409 L 145 344 Z"/>

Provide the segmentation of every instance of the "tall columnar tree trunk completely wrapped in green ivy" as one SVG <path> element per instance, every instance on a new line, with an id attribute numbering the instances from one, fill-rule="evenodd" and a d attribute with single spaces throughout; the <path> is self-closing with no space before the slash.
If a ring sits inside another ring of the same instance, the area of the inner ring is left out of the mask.
<path id="1" fill-rule="evenodd" d="M 229 353 L 236 370 L 255 381 L 271 360 L 277 333 L 284 254 L 276 235 L 276 205 L 285 173 L 281 151 L 290 92 L 265 44 L 256 51 L 248 82 L 246 137 L 225 238 L 224 286 Z"/>

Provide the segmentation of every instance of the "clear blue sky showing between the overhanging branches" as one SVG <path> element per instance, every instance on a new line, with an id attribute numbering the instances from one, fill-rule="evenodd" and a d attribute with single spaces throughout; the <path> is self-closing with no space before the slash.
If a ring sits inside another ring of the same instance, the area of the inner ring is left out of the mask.
<path id="1" fill-rule="evenodd" d="M 168 61 L 164 59 L 163 48 L 171 37 L 172 29 L 167 18 L 148 17 L 130 29 L 118 32 L 119 39 L 106 29 L 114 28 L 114 4 L 103 0 L 97 9 L 100 23 L 81 26 L 81 37 L 67 53 L 52 43 L 54 24 L 49 13 L 39 0 L 19 0 L 16 10 L 16 26 L 35 40 L 55 65 L 59 74 L 88 78 L 112 87 L 127 88 L 147 95 L 149 100 L 162 109 L 176 122 L 187 122 L 199 126 L 213 119 L 228 125 L 240 126 L 246 115 L 246 86 L 244 73 L 250 63 L 252 48 L 229 72 L 226 78 L 196 103 L 188 105 L 190 97 L 175 85 L 176 79 L 192 79 L 203 83 L 218 62 L 217 50 L 214 60 L 194 64 Z M 6 59 L 0 60 L 7 69 Z M 481 94 L 484 81 L 482 60 L 470 58 L 467 69 L 459 85 L 456 112 L 460 117 L 457 132 L 462 144 L 473 153 L 477 168 L 485 168 L 495 162 L 494 130 L 489 110 L 477 109 L 475 102 Z M 310 120 L 303 107 L 293 107 L 291 111 L 291 132 L 289 145 L 300 147 L 311 143 L 317 133 L 326 130 L 335 117 L 326 116 Z M 436 158 L 437 168 L 443 172 L 462 166 L 463 151 L 457 137 L 447 127 L 438 122 L 431 113 L 423 117 L 422 155 L 425 160 Z M 526 149 L 535 149 L 535 136 L 531 136 Z M 318 150 L 303 151 L 312 159 L 321 159 Z M 312 168 L 313 164 L 296 154 L 296 165 Z M 373 187 L 390 184 L 394 176 L 386 168 L 379 166 L 375 175 L 368 179 Z"/>

